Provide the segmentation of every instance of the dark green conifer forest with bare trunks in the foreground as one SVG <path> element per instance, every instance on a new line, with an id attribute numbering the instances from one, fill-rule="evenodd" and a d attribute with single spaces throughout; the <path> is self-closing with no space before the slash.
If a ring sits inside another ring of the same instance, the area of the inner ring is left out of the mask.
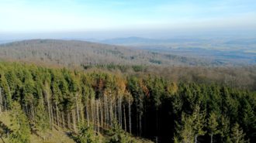
<path id="1" fill-rule="evenodd" d="M 0 137 L 26 143 L 58 127 L 82 143 L 254 142 L 255 98 L 253 87 L 2 62 L 0 117 L 13 127 Z"/>

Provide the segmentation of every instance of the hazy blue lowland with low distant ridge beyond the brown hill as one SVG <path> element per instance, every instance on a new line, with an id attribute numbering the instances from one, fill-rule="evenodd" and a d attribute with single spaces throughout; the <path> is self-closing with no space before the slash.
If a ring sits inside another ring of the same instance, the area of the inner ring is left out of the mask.
<path id="1" fill-rule="evenodd" d="M 99 40 L 119 46 L 130 46 L 133 49 L 144 49 L 154 53 L 171 53 L 176 56 L 208 59 L 221 63 L 217 65 L 255 65 L 256 38 L 170 38 L 147 39 L 141 37 L 127 37 Z M 215 64 L 216 65 L 216 64 Z"/>

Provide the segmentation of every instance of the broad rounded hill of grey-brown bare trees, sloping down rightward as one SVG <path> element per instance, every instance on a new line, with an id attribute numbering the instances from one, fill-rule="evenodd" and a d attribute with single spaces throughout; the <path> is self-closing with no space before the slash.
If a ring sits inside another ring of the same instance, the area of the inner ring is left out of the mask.
<path id="1" fill-rule="evenodd" d="M 0 59 L 22 60 L 64 66 L 97 64 L 218 66 L 214 60 L 199 60 L 170 53 L 153 53 L 124 46 L 75 40 L 33 39 L 0 45 Z"/>

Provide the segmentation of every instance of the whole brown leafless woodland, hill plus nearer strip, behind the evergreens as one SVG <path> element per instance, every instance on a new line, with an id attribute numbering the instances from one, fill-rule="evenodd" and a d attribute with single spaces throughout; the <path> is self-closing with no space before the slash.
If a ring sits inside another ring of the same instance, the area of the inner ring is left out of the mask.
<path id="1" fill-rule="evenodd" d="M 0 60 L 86 71 L 154 74 L 175 82 L 218 83 L 256 89 L 256 66 L 223 66 L 214 60 L 74 40 L 33 39 L 2 44 Z"/>

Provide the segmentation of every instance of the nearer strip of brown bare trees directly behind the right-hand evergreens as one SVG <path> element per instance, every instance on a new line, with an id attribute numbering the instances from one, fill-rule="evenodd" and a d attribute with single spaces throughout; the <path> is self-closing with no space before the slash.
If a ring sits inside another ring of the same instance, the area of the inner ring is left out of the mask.
<path id="1" fill-rule="evenodd" d="M 100 70 L 143 76 L 147 74 L 163 77 L 173 82 L 217 83 L 222 86 L 256 90 L 256 66 L 147 66 L 147 65 L 95 65 L 78 68 L 90 72 Z"/>

